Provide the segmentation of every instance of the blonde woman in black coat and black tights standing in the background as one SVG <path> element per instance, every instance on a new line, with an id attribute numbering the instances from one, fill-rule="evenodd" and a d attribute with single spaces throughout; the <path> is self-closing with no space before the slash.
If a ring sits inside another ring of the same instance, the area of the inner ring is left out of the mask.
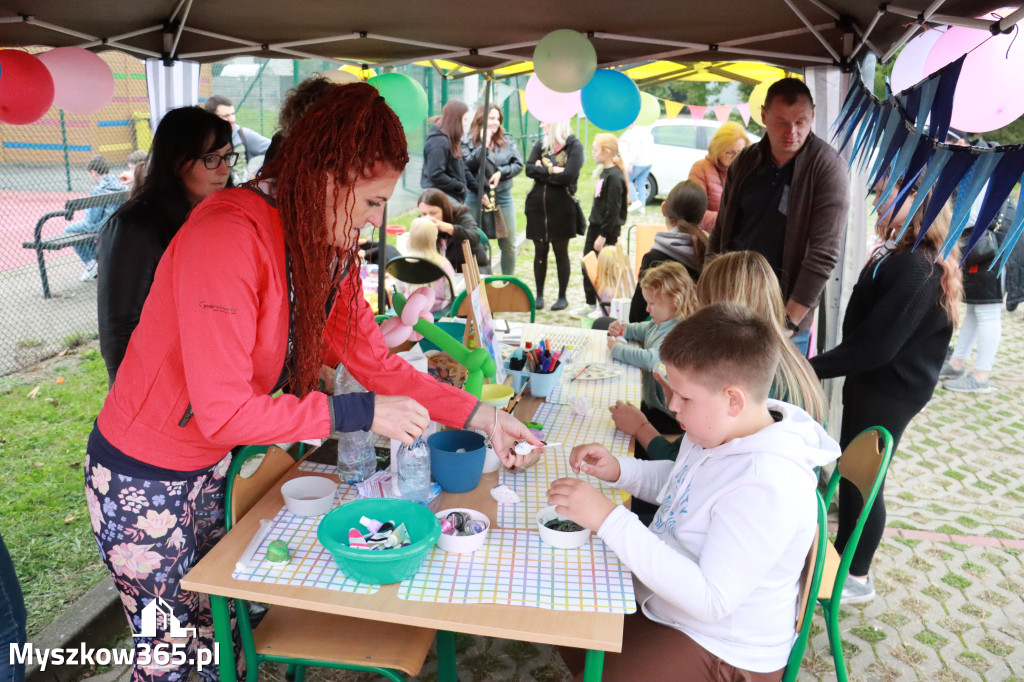
<path id="1" fill-rule="evenodd" d="M 568 123 L 542 123 L 543 137 L 526 160 L 526 176 L 534 187 L 526 195 L 526 239 L 534 242 L 537 309 L 544 307 L 544 280 L 548 274 L 548 247 L 558 268 L 558 300 L 552 310 L 568 306 L 569 240 L 577 236 L 577 182 L 583 168 L 583 143 L 569 134 Z"/>

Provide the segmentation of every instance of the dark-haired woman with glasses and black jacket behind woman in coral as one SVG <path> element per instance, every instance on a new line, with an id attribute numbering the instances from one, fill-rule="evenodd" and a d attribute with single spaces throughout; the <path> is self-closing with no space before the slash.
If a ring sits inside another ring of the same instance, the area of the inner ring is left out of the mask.
<path id="1" fill-rule="evenodd" d="M 145 177 L 100 230 L 96 247 L 99 352 L 111 384 L 164 250 L 196 204 L 231 186 L 238 159 L 231 125 L 202 109 L 172 110 L 157 126 Z"/>

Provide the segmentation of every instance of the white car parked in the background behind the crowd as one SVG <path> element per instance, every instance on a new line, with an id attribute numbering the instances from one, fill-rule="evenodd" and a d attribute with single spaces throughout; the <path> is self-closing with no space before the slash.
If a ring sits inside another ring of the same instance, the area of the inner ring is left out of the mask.
<path id="1" fill-rule="evenodd" d="M 708 143 L 722 124 L 718 121 L 663 119 L 652 123 L 653 163 L 647 176 L 647 201 L 668 197 L 674 186 L 689 177 L 690 168 L 708 156 Z M 748 133 L 751 144 L 761 137 Z"/>

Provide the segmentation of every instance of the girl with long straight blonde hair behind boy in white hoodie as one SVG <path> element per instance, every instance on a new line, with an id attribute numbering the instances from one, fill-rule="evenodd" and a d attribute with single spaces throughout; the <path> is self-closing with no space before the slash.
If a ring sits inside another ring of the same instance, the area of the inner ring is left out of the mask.
<path id="1" fill-rule="evenodd" d="M 696 285 L 700 307 L 714 303 L 739 303 L 771 323 L 785 340 L 785 305 L 771 265 L 756 251 L 734 251 L 708 261 Z M 827 406 L 821 384 L 810 363 L 792 343 L 783 343 L 771 386 L 771 397 L 803 408 L 818 423 L 825 421 Z M 668 398 L 671 400 L 671 396 Z M 618 401 L 611 408 L 615 426 L 633 435 L 651 459 L 675 459 L 678 442 L 662 437 L 663 431 L 633 406 Z"/>

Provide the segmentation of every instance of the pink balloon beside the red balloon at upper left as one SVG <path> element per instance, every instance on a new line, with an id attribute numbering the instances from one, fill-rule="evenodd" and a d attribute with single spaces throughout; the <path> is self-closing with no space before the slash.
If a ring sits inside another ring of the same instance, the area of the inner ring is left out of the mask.
<path id="1" fill-rule="evenodd" d="M 53 77 L 53 105 L 72 114 L 95 114 L 114 98 L 114 74 L 98 54 L 81 47 L 40 52 Z"/>

